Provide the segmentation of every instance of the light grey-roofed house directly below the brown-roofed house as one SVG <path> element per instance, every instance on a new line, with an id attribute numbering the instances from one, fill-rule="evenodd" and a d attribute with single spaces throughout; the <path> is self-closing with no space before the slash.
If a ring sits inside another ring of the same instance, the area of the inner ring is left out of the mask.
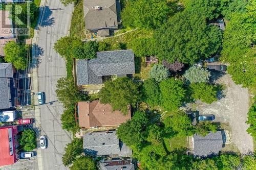
<path id="1" fill-rule="evenodd" d="M 132 150 L 117 138 L 116 131 L 92 132 L 83 135 L 84 152 L 92 156 L 130 157 Z"/>

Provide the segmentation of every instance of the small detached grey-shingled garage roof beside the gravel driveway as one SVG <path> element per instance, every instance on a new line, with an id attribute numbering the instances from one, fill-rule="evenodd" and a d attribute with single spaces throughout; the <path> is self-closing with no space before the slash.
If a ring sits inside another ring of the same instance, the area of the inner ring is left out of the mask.
<path id="1" fill-rule="evenodd" d="M 219 152 L 222 150 L 222 146 L 222 131 L 217 131 L 216 133 L 210 132 L 204 137 L 198 134 L 194 135 L 195 156 L 207 157 L 218 155 Z"/>

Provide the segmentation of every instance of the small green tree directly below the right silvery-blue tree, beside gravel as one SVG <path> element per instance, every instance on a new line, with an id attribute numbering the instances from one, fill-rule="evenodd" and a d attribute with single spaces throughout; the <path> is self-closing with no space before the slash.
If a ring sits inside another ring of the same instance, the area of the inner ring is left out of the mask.
<path id="1" fill-rule="evenodd" d="M 207 104 L 211 104 L 212 102 L 216 102 L 217 98 L 217 86 L 206 84 L 204 82 L 201 83 L 191 83 L 191 98 L 199 99 L 202 102 Z"/>

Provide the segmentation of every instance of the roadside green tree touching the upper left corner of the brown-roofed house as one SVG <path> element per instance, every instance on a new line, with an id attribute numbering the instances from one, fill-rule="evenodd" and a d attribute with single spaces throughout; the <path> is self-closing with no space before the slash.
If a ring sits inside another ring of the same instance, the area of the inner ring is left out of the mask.
<path id="1" fill-rule="evenodd" d="M 88 95 L 79 92 L 71 78 L 60 78 L 56 84 L 56 94 L 58 100 L 64 107 L 68 108 L 79 101 L 89 99 Z"/>

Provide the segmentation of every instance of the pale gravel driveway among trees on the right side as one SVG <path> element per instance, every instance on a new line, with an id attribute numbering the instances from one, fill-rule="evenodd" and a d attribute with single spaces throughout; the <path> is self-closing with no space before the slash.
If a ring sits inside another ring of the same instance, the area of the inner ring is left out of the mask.
<path id="1" fill-rule="evenodd" d="M 218 75 L 212 74 L 212 77 Z M 225 86 L 223 97 L 210 105 L 197 102 L 199 114 L 214 114 L 216 122 L 228 123 L 231 128 L 230 139 L 240 150 L 241 154 L 253 151 L 252 137 L 247 134 L 247 112 L 249 109 L 249 93 L 247 88 L 235 85 L 229 75 L 214 80 Z"/>

